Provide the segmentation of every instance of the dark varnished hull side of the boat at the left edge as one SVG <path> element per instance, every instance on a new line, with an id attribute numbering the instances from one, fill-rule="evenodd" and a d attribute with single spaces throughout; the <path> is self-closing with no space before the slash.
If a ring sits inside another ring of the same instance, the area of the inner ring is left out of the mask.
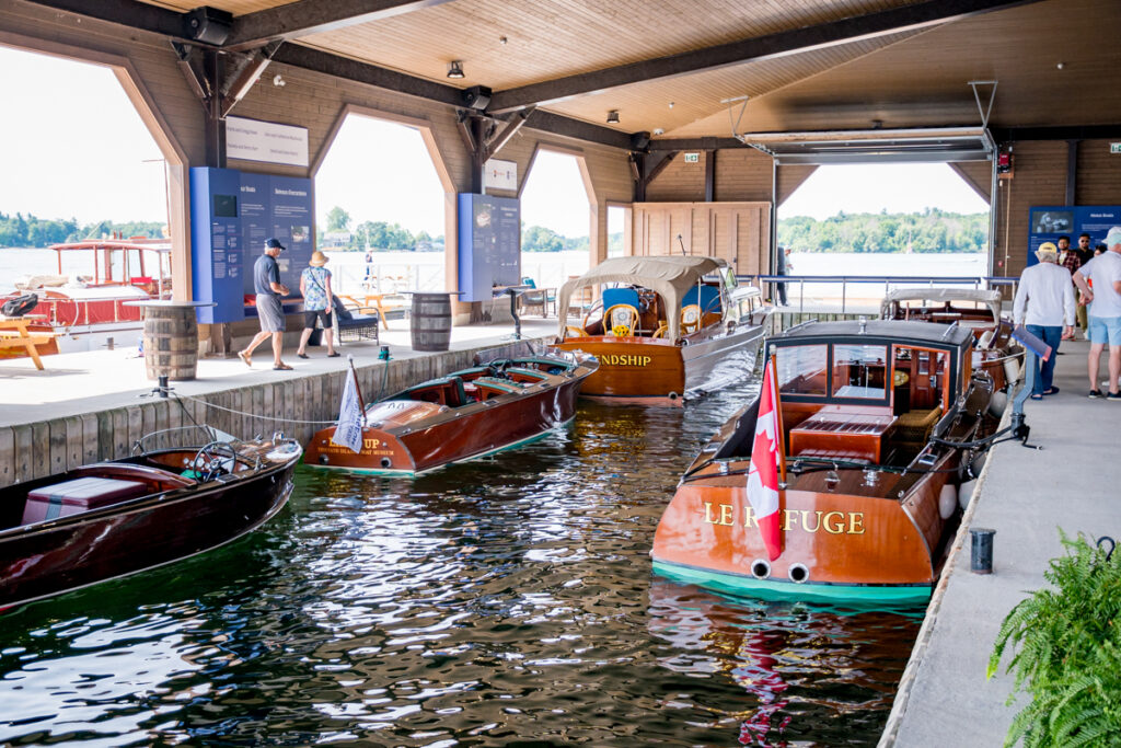
<path id="1" fill-rule="evenodd" d="M 287 462 L 247 478 L 169 490 L 0 532 L 0 607 L 135 574 L 241 537 L 287 502 L 299 454 L 296 447 Z M 6 526 L 18 524 L 28 491 L 70 475 L 0 491 Z"/>

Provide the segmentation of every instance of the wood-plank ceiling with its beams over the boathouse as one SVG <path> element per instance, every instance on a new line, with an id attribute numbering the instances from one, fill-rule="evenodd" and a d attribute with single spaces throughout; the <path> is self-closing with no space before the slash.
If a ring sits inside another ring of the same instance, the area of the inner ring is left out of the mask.
<path id="1" fill-rule="evenodd" d="M 170 36 L 176 16 L 196 7 L 29 1 Z M 973 80 L 999 82 L 990 122 L 998 128 L 1121 123 L 1119 0 L 210 4 L 234 17 L 226 48 L 284 39 L 277 62 L 448 105 L 458 103 L 456 89 L 488 86 L 489 111 L 500 118 L 536 107 L 531 126 L 548 112 L 559 116 L 547 119 L 554 127 L 589 123 L 585 137 L 611 145 L 643 131 L 656 141 L 728 139 L 739 104 L 722 100 L 743 95 L 739 132 L 975 126 Z M 464 79 L 446 77 L 452 61 Z M 606 122 L 611 110 L 617 124 Z"/>

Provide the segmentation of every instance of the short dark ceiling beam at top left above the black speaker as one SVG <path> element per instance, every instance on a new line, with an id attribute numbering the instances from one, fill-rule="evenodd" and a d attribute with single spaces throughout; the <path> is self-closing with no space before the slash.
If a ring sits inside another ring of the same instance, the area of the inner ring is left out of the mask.
<path id="1" fill-rule="evenodd" d="M 400 16 L 442 6 L 452 0 L 297 0 L 233 19 L 223 48 L 259 47 L 277 39 L 297 39 L 309 34 Z"/>

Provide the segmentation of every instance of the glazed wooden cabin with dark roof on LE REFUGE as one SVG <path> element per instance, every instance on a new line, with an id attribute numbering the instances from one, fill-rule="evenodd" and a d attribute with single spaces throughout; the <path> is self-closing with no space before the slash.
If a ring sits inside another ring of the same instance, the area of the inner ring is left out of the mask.
<path id="1" fill-rule="evenodd" d="M 787 455 L 907 464 L 965 391 L 973 334 L 923 322 L 810 322 L 767 342 Z"/>

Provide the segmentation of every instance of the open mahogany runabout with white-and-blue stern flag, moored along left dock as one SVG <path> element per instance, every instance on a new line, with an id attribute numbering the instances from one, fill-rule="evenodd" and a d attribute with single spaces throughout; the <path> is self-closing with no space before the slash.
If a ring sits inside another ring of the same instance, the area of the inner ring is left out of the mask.
<path id="1" fill-rule="evenodd" d="M 377 474 L 416 475 L 513 449 L 567 423 L 581 385 L 599 368 L 585 353 L 497 359 L 453 371 L 365 408 L 362 450 L 317 432 L 304 462 Z"/>

